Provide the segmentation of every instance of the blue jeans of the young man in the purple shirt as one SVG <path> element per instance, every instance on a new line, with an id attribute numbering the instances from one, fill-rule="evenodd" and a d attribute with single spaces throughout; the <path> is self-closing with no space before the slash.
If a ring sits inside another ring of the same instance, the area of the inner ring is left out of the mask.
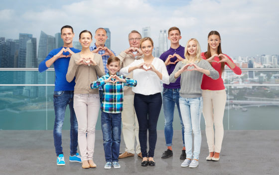
<path id="1" fill-rule="evenodd" d="M 181 124 L 181 131 L 182 131 L 182 140 L 183 140 L 183 147 L 185 146 L 184 142 L 184 125 L 181 118 L 180 107 L 179 107 L 179 88 L 163 88 L 163 109 L 164 109 L 164 116 L 165 116 L 165 141 L 166 146 L 172 145 L 172 136 L 173 136 L 173 111 L 175 107 L 175 103 L 177 106 L 180 124 Z"/>

